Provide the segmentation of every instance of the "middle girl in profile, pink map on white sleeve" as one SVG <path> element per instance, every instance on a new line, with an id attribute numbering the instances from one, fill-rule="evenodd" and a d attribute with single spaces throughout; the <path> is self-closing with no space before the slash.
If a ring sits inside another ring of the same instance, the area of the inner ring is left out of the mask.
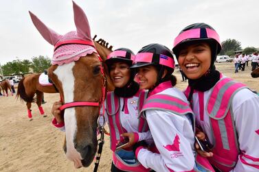
<path id="1" fill-rule="evenodd" d="M 203 167 L 195 164 L 194 116 L 185 95 L 174 88 L 172 51 L 164 45 L 147 45 L 137 53 L 131 68 L 137 71 L 140 88 L 148 89 L 148 98 L 139 107 L 140 117 L 146 118 L 157 148 L 154 153 L 137 143 L 137 160 L 155 171 L 210 171 L 205 158 L 199 157 L 205 162 Z"/>

